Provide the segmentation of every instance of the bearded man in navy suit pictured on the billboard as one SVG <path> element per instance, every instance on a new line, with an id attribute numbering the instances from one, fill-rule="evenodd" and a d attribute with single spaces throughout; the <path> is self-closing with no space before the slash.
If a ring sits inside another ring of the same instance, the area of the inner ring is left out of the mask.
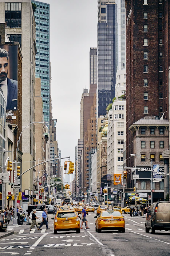
<path id="1" fill-rule="evenodd" d="M 7 109 L 17 109 L 17 81 L 8 76 L 8 52 L 0 48 L 0 87 L 7 100 Z"/>

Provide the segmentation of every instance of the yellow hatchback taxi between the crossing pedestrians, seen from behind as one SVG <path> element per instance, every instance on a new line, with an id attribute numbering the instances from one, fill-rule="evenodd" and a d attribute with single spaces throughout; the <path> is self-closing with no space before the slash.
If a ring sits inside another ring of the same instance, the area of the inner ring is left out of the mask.
<path id="1" fill-rule="evenodd" d="M 54 234 L 65 230 L 76 230 L 76 233 L 80 233 L 79 217 L 74 210 L 59 210 L 55 215 Z"/>

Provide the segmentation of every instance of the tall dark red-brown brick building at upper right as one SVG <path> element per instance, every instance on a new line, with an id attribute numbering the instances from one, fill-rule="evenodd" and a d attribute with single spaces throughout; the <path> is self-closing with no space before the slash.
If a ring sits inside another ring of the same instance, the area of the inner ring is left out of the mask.
<path id="1" fill-rule="evenodd" d="M 126 5 L 126 158 L 134 165 L 130 126 L 146 116 L 168 118 L 170 2 L 125 0 Z M 132 186 L 131 178 L 128 186 Z"/>

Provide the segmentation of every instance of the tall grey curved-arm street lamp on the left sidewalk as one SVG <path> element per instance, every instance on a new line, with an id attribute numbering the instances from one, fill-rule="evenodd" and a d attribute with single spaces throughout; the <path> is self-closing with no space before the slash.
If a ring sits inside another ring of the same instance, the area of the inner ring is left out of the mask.
<path id="1" fill-rule="evenodd" d="M 25 126 L 25 128 L 21 131 L 20 133 L 20 136 L 19 136 L 19 139 L 17 140 L 17 146 L 16 146 L 16 158 L 15 158 L 15 171 L 17 171 L 17 157 L 18 157 L 18 151 L 19 151 L 19 143 L 20 143 L 20 138 L 21 138 L 21 134 L 23 133 L 23 131 L 31 124 L 47 124 L 46 122 L 32 122 L 28 125 Z M 17 175 L 17 174 L 15 174 Z M 15 185 L 17 185 L 17 178 L 15 176 Z M 16 211 L 16 208 L 17 208 L 17 196 L 15 195 L 15 211 L 14 211 L 14 218 L 13 218 L 13 225 L 18 225 L 17 224 L 17 211 Z"/>

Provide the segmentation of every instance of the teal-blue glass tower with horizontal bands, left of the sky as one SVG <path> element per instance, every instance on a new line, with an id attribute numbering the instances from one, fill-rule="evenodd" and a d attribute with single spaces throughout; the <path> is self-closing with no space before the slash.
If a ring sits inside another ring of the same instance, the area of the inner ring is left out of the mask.
<path id="1" fill-rule="evenodd" d="M 36 77 L 41 78 L 44 120 L 50 122 L 50 5 L 38 1 L 34 12 L 36 22 Z"/>

